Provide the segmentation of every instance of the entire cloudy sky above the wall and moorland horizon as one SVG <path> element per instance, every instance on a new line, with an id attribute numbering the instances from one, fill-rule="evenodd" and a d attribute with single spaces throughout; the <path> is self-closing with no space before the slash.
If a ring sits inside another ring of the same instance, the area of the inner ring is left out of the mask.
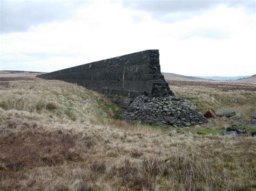
<path id="1" fill-rule="evenodd" d="M 161 72 L 254 75 L 255 8 L 255 0 L 0 0 L 0 70 L 52 72 L 159 49 Z"/>

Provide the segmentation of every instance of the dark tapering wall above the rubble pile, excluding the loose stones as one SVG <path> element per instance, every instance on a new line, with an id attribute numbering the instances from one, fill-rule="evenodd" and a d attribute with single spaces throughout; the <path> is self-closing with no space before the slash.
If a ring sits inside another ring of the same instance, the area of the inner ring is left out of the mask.
<path id="1" fill-rule="evenodd" d="M 172 95 L 160 71 L 158 50 L 147 50 L 87 63 L 37 77 L 77 83 L 100 93 L 135 98 Z"/>

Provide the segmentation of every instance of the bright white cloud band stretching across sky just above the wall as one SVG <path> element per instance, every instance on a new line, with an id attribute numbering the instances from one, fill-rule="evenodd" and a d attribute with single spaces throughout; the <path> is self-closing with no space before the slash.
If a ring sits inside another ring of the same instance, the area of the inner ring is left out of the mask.
<path id="1" fill-rule="evenodd" d="M 122 3 L 92 2 L 61 22 L 1 35 L 1 69 L 50 72 L 159 49 L 163 72 L 252 75 L 255 13 L 227 5 L 167 23 Z M 31 69 L 30 69 L 31 68 Z"/>

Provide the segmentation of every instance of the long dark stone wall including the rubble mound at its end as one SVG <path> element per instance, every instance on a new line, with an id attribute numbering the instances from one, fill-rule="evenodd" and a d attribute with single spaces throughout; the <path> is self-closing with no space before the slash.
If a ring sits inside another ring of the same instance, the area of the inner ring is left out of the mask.
<path id="1" fill-rule="evenodd" d="M 87 63 L 37 77 L 77 83 L 107 94 L 114 103 L 126 108 L 122 116 L 115 116 L 117 119 L 180 128 L 207 123 L 207 119 L 193 103 L 173 95 L 161 74 L 159 52 L 156 49 Z"/>

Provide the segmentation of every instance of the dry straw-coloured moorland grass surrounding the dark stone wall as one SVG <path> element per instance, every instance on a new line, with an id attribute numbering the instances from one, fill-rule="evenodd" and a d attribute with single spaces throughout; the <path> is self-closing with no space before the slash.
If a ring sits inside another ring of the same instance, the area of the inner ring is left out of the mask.
<path id="1" fill-rule="evenodd" d="M 201 112 L 239 113 L 180 129 L 114 120 L 122 109 L 95 91 L 34 76 L 0 75 L 0 190 L 256 189 L 255 137 L 219 136 L 250 122 L 252 84 L 170 82 Z"/>

